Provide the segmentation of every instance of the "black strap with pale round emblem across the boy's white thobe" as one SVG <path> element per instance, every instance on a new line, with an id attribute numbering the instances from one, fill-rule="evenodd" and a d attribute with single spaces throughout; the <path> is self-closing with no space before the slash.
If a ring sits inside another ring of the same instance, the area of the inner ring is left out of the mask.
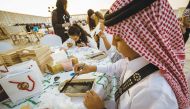
<path id="1" fill-rule="evenodd" d="M 140 70 L 136 71 L 115 92 L 115 101 L 117 101 L 120 98 L 120 96 L 129 88 L 131 88 L 133 85 L 137 84 L 139 81 L 141 81 L 142 79 L 144 79 L 145 77 L 147 77 L 148 75 L 152 74 L 157 70 L 159 70 L 159 68 L 150 63 L 141 68 Z"/>

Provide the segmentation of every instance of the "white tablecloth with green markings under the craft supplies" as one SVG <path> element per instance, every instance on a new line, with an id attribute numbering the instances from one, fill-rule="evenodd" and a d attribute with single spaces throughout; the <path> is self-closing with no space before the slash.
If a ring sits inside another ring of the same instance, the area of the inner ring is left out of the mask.
<path id="1" fill-rule="evenodd" d="M 56 50 L 57 51 L 57 50 Z M 110 59 L 107 57 L 102 60 L 89 60 L 86 55 L 99 52 L 92 48 L 72 48 L 67 51 L 68 55 L 78 57 L 79 62 L 90 65 L 108 65 L 111 64 Z M 59 93 L 58 85 L 72 76 L 70 72 L 60 72 L 56 75 L 47 74 L 44 76 L 43 89 L 44 91 L 29 99 L 24 100 L 22 103 L 13 104 L 10 100 L 0 103 L 0 109 L 20 109 L 25 105 L 30 105 L 32 109 L 42 109 L 48 107 L 49 109 L 85 109 L 83 105 L 83 97 L 67 97 Z M 54 78 L 59 76 L 58 81 Z M 118 78 L 115 76 L 109 77 L 102 73 L 92 72 L 89 74 L 80 75 L 77 79 L 95 78 L 95 85 L 93 89 L 105 100 L 105 105 L 108 109 L 115 109 L 114 93 L 118 87 Z"/>

